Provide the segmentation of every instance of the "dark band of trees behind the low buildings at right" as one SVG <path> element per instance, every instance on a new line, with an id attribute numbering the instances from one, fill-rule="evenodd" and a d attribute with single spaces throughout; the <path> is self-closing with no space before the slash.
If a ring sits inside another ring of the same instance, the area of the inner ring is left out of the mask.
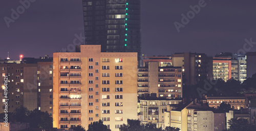
<path id="1" fill-rule="evenodd" d="M 185 80 L 184 80 L 185 81 Z M 199 81 L 195 85 L 183 85 L 183 97 L 201 98 L 207 96 L 244 96 L 245 93 L 256 93 L 256 74 L 247 78 L 243 83 L 229 79 Z"/>

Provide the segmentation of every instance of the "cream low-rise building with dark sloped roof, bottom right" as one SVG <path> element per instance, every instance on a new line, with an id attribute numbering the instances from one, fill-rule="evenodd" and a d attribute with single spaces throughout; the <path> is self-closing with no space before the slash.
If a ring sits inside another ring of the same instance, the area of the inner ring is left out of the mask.
<path id="1" fill-rule="evenodd" d="M 225 129 L 225 113 L 212 110 L 199 101 L 185 101 L 169 105 L 165 125 L 180 130 L 220 130 Z"/>

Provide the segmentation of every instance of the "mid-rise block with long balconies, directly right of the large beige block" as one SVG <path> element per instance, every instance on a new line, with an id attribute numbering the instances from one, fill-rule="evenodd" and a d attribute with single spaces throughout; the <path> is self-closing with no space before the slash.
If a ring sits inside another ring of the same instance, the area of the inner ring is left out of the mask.
<path id="1" fill-rule="evenodd" d="M 159 67 L 159 62 L 147 62 L 148 66 L 138 69 L 138 96 L 156 93 L 157 97 L 182 97 L 181 67 Z"/>

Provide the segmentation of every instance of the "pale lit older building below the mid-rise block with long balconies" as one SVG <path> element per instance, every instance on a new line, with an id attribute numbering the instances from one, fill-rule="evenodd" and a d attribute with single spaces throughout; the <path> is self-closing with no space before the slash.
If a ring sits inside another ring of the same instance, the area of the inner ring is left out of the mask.
<path id="1" fill-rule="evenodd" d="M 164 125 L 164 112 L 167 111 L 169 104 L 178 104 L 182 99 L 166 99 L 158 98 L 151 94 L 150 97 L 140 99 L 140 121 L 142 124 L 154 123 L 157 127 L 165 128 Z"/>

